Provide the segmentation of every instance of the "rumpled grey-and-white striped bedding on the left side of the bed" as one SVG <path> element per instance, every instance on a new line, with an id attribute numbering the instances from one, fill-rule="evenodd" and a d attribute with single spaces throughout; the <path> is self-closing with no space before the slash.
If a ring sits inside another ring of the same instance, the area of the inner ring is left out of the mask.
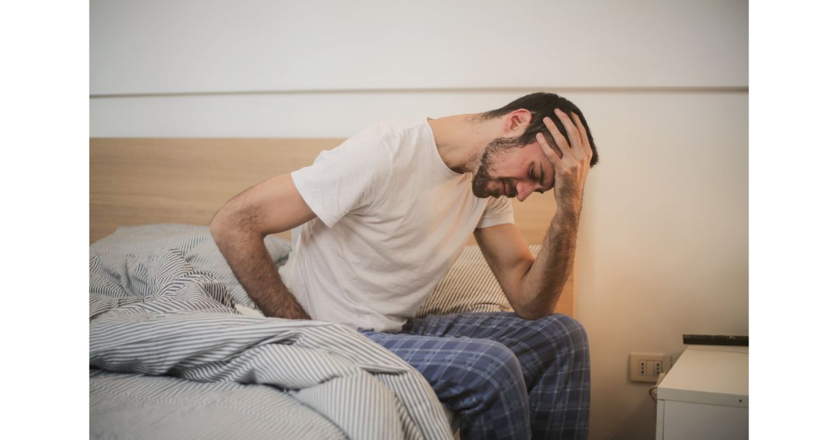
<path id="1" fill-rule="evenodd" d="M 452 437 L 422 375 L 370 339 L 236 312 L 193 264 L 208 232 L 191 232 L 162 249 L 142 230 L 91 246 L 91 437 Z M 215 256 L 199 253 L 206 269 Z"/>

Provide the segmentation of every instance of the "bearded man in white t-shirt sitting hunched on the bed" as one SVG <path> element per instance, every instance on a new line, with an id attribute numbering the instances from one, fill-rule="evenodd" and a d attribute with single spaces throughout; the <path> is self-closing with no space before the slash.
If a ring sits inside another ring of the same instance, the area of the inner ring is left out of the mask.
<path id="1" fill-rule="evenodd" d="M 370 127 L 236 196 L 211 230 L 266 316 L 360 329 L 425 376 L 462 417 L 463 438 L 585 438 L 587 335 L 551 313 L 597 160 L 577 106 L 533 93 L 482 114 Z M 507 198 L 549 189 L 556 215 L 534 258 Z M 286 286 L 263 239 L 297 225 Z M 410 319 L 471 234 L 515 313 Z"/>

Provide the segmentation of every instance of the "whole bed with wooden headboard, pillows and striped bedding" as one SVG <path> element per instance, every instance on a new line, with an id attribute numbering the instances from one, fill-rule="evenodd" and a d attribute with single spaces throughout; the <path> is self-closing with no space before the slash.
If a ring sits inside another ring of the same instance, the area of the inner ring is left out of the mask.
<path id="1" fill-rule="evenodd" d="M 91 139 L 91 437 L 452 437 L 456 415 L 395 355 L 261 317 L 209 235 L 227 199 L 340 142 Z M 533 251 L 551 203 L 515 204 Z M 266 237 L 277 270 L 289 240 Z M 556 312 L 573 314 L 573 287 Z M 471 243 L 419 313 L 509 309 Z"/>

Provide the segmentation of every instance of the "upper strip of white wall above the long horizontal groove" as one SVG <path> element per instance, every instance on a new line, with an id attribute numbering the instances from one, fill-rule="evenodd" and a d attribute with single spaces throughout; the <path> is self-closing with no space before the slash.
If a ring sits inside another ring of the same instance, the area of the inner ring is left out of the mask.
<path id="1" fill-rule="evenodd" d="M 91 94 L 747 85 L 744 1 L 91 2 Z"/>

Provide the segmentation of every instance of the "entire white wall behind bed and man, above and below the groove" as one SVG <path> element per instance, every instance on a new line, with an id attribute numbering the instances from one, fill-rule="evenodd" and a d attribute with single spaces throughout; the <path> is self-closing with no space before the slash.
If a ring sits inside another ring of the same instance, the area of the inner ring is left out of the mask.
<path id="1" fill-rule="evenodd" d="M 91 2 L 92 137 L 348 137 L 556 91 L 602 155 L 577 254 L 591 438 L 652 438 L 631 351 L 747 334 L 747 2 Z"/>

